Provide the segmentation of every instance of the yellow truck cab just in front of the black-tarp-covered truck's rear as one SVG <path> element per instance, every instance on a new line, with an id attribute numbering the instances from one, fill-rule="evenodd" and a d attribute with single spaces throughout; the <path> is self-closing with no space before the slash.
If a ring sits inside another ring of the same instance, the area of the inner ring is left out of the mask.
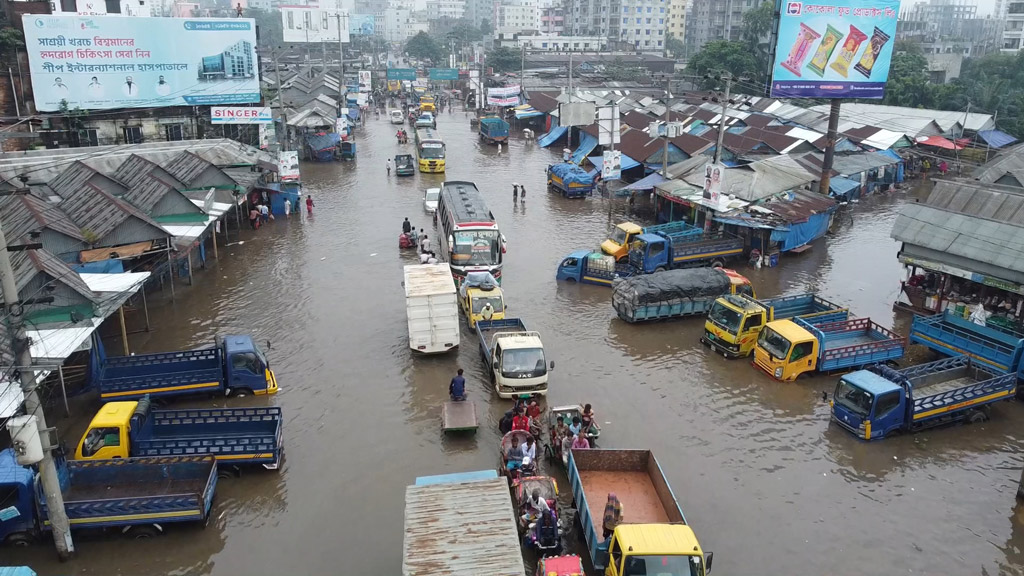
<path id="1" fill-rule="evenodd" d="M 708 312 L 700 339 L 728 358 L 750 356 L 767 320 L 768 311 L 755 299 L 727 294 Z"/>

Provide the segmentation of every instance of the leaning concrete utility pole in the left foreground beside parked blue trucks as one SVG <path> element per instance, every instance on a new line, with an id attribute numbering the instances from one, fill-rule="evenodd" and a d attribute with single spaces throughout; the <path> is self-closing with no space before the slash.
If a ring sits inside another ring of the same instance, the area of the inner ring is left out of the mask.
<path id="1" fill-rule="evenodd" d="M 53 530 L 53 543 L 57 546 L 57 556 L 61 561 L 65 561 L 75 552 L 75 543 L 71 539 L 71 526 L 68 522 L 68 512 L 63 507 L 63 494 L 60 492 L 60 481 L 57 478 L 56 465 L 53 463 L 50 430 L 46 426 L 43 405 L 36 392 L 36 373 L 32 369 L 32 349 L 29 336 L 25 331 L 25 308 L 18 300 L 17 284 L 14 281 L 14 271 L 10 265 L 10 253 L 7 250 L 7 239 L 0 228 L 0 284 L 3 288 L 4 304 L 7 307 L 7 322 L 11 332 L 17 372 L 20 375 L 22 392 L 25 393 L 25 413 L 34 415 L 39 424 L 39 440 L 43 447 L 43 459 L 39 462 L 39 477 L 43 483 L 43 496 L 46 498 L 50 528 Z"/>

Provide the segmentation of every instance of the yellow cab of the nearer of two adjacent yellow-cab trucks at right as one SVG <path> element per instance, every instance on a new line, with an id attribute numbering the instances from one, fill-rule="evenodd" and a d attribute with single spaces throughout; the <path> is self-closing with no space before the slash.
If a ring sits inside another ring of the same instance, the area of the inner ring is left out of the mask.
<path id="1" fill-rule="evenodd" d="M 778 320 L 761 330 L 754 360 L 775 379 L 792 382 L 817 368 L 820 345 L 814 334 L 796 322 Z"/>

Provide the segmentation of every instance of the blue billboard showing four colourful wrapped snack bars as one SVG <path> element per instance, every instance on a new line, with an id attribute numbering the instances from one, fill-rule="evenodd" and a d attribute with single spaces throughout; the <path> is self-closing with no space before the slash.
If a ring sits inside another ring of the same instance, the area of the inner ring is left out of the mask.
<path id="1" fill-rule="evenodd" d="M 899 0 L 783 0 L 772 97 L 881 98 Z"/>

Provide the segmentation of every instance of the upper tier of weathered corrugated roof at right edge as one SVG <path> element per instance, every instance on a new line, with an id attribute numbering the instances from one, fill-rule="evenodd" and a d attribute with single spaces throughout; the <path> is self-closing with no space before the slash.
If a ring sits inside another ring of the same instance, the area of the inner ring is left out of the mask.
<path id="1" fill-rule="evenodd" d="M 1020 189 L 936 180 L 925 204 L 1024 228 L 1024 191 Z"/>

